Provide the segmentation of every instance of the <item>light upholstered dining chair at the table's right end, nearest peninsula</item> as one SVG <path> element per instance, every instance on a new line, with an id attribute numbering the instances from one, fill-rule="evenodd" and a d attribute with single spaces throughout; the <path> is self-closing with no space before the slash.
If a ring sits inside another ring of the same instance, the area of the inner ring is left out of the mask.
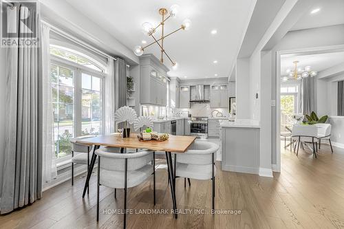
<path id="1" fill-rule="evenodd" d="M 175 153 L 175 177 L 212 180 L 212 208 L 215 208 L 215 153 L 219 145 L 194 142 L 185 153 Z"/>

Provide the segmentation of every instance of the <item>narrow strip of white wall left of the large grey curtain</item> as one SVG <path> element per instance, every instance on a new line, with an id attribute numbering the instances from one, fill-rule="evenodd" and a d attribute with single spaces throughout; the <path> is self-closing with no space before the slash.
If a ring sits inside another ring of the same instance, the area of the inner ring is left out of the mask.
<path id="1" fill-rule="evenodd" d="M 6 117 L 6 49 L 0 47 L 0 196 L 3 182 L 3 156 L 5 154 L 5 117 Z"/>

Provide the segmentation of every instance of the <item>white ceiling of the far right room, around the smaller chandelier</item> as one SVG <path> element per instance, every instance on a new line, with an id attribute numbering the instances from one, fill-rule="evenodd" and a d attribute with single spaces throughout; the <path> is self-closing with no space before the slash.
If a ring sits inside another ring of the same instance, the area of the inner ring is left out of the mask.
<path id="1" fill-rule="evenodd" d="M 310 66 L 312 70 L 321 72 L 324 69 L 333 67 L 344 62 L 344 52 L 330 52 L 323 54 L 312 54 L 296 56 L 293 54 L 281 56 L 281 76 L 286 76 L 286 70 L 294 69 L 293 61 L 299 61 L 298 67 Z"/>

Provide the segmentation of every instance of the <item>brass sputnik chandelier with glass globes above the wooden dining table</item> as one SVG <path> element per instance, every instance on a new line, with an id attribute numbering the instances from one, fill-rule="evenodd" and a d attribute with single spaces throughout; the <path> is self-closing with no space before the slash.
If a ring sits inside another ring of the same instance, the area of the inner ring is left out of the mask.
<path id="1" fill-rule="evenodd" d="M 177 68 L 178 63 L 175 61 L 172 61 L 170 56 L 164 50 L 164 39 L 167 36 L 170 36 L 171 34 L 178 32 L 179 30 L 189 30 L 189 28 L 191 27 L 191 21 L 190 21 L 190 19 L 184 19 L 180 28 L 178 28 L 177 30 L 174 30 L 173 32 L 170 32 L 169 34 L 166 34 L 166 35 L 164 34 L 164 25 L 165 25 L 165 22 L 167 21 L 167 19 L 169 19 L 171 17 L 172 18 L 176 17 L 176 15 L 178 14 L 178 9 L 179 9 L 178 5 L 171 6 L 169 12 L 166 10 L 166 8 L 160 8 L 159 14 L 162 17 L 162 21 L 156 27 L 153 27 L 153 25 L 149 22 L 145 22 L 142 24 L 142 32 L 144 34 L 146 34 L 147 36 L 151 36 L 154 39 L 154 41 L 152 43 L 150 43 L 149 45 L 146 45 L 144 47 L 137 45 L 133 50 L 133 52 L 134 52 L 134 54 L 136 54 L 136 56 L 141 56 L 147 47 L 156 43 L 160 47 L 160 52 L 161 52 L 160 62 L 164 63 L 164 54 L 165 54 L 167 56 L 167 58 L 169 58 L 169 60 L 171 61 L 171 65 L 172 65 L 173 69 Z M 168 13 L 169 13 L 169 15 L 167 16 Z M 160 36 L 160 39 L 157 39 L 157 38 L 155 38 L 155 32 L 160 26 L 161 26 L 161 36 Z"/>

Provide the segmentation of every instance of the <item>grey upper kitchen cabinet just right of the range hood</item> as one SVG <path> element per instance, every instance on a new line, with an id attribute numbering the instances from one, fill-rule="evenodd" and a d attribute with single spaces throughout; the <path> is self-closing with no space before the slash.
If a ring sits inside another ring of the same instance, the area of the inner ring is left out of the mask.
<path id="1" fill-rule="evenodd" d="M 211 85 L 211 107 L 228 107 L 228 85 Z"/>

